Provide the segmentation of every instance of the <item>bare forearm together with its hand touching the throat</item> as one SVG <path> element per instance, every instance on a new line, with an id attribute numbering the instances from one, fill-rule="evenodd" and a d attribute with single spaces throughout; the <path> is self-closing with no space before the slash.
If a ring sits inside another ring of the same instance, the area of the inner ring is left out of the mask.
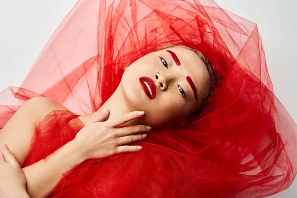
<path id="1" fill-rule="evenodd" d="M 27 180 L 27 192 L 30 197 L 41 198 L 49 195 L 63 173 L 87 159 L 102 159 L 119 153 L 141 150 L 141 147 L 138 146 L 122 145 L 143 140 L 146 135 L 137 133 L 148 131 L 150 127 L 138 125 L 117 128 L 117 126 L 143 115 L 137 113 L 125 114 L 114 122 L 102 122 L 109 115 L 109 112 L 106 111 L 99 116 L 98 122 L 86 125 L 79 131 L 74 140 L 56 150 L 46 159 L 23 168 Z"/>

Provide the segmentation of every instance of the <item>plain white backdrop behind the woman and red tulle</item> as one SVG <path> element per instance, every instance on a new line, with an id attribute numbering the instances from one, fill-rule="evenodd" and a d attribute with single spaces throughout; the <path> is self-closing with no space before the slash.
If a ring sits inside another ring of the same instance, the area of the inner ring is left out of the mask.
<path id="1" fill-rule="evenodd" d="M 20 86 L 77 0 L 0 0 L 0 91 Z M 216 0 L 258 24 L 275 95 L 297 121 L 297 0 Z M 297 181 L 273 198 L 297 198 Z"/>

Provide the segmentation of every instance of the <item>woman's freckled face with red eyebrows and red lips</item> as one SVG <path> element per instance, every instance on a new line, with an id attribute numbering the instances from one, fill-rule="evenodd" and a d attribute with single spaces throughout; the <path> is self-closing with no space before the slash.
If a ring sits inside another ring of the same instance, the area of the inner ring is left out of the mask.
<path id="1" fill-rule="evenodd" d="M 141 122 L 154 128 L 182 124 L 207 95 L 209 74 L 192 50 L 172 47 L 133 62 L 120 84 L 127 104 L 145 111 Z"/>

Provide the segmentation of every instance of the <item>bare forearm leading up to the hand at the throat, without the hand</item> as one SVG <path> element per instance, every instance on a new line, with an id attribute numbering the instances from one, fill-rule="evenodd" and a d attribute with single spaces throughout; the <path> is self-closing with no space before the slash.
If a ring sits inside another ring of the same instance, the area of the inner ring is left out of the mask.
<path id="1" fill-rule="evenodd" d="M 83 161 L 84 158 L 71 141 L 46 159 L 23 168 L 28 194 L 31 198 L 46 197 L 59 182 L 63 173 Z"/>

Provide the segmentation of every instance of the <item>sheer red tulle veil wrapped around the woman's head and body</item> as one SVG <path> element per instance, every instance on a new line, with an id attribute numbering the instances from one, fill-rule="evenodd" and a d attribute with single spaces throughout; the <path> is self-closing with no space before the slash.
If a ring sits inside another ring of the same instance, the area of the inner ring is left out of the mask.
<path id="1" fill-rule="evenodd" d="M 138 153 L 65 173 L 50 197 L 254 198 L 290 186 L 297 126 L 273 94 L 257 26 L 213 0 L 79 0 L 21 87 L 1 93 L 1 128 L 19 105 L 41 95 L 76 114 L 94 112 L 124 67 L 169 45 L 198 49 L 217 70 L 209 104 L 180 129 L 150 132 Z M 72 140 L 76 117 L 49 114 L 26 166 Z"/>

